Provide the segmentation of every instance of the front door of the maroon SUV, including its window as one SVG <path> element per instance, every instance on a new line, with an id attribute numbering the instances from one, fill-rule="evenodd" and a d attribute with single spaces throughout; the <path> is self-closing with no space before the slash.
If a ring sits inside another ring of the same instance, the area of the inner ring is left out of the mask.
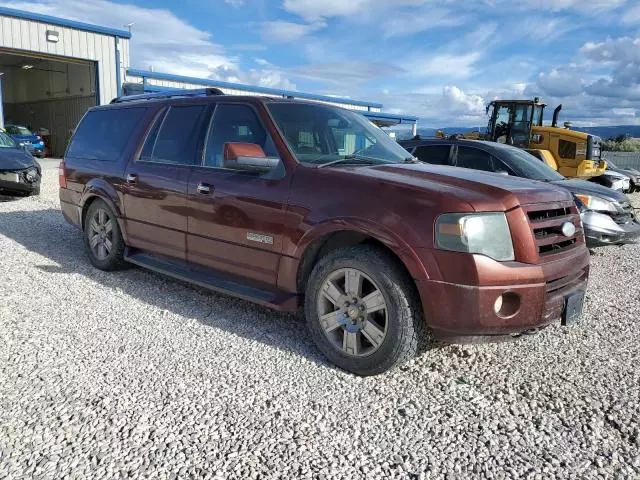
<path id="1" fill-rule="evenodd" d="M 187 258 L 190 262 L 275 285 L 290 177 L 280 161 L 257 174 L 224 168 L 227 142 L 259 145 L 279 156 L 256 110 L 218 104 L 207 133 L 202 164 L 189 177 Z"/>

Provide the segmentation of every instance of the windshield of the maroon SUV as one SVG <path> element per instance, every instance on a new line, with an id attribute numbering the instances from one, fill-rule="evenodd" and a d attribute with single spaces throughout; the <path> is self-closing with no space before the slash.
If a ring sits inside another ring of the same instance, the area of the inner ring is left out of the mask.
<path id="1" fill-rule="evenodd" d="M 411 155 L 366 118 L 327 105 L 269 103 L 269 111 L 300 162 L 322 165 L 345 158 L 402 163 Z"/>

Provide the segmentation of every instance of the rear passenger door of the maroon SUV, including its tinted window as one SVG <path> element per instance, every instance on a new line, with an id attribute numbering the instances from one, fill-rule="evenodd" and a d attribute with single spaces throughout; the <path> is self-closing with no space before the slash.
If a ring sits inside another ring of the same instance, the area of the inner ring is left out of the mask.
<path id="1" fill-rule="evenodd" d="M 181 103 L 158 112 L 127 167 L 124 214 L 132 247 L 186 260 L 187 183 L 201 158 L 208 109 Z"/>

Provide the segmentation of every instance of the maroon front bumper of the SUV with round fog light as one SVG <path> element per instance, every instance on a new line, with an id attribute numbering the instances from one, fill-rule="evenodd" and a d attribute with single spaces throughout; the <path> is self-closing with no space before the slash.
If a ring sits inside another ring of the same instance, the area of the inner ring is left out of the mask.
<path id="1" fill-rule="evenodd" d="M 442 257 L 437 260 L 441 272 L 447 264 L 449 270 L 460 270 L 454 265 L 461 257 L 447 260 L 450 255 L 442 252 L 436 255 Z M 589 252 L 584 246 L 542 265 L 467 256 L 473 265 L 464 267 L 464 273 L 459 272 L 458 281 L 417 282 L 426 323 L 439 340 L 495 341 L 545 327 L 560 320 L 568 295 L 587 288 Z M 472 282 L 478 284 L 468 284 Z M 511 299 L 513 308 L 496 312 L 496 300 L 500 296 Z"/>

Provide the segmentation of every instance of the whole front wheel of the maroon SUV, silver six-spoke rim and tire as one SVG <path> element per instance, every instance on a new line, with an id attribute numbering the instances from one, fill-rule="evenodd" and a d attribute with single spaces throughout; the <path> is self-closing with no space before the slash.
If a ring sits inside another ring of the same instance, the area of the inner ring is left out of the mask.
<path id="1" fill-rule="evenodd" d="M 411 280 L 373 247 L 332 251 L 307 284 L 311 337 L 329 360 L 358 375 L 384 372 L 416 354 L 423 325 L 418 307 Z"/>

